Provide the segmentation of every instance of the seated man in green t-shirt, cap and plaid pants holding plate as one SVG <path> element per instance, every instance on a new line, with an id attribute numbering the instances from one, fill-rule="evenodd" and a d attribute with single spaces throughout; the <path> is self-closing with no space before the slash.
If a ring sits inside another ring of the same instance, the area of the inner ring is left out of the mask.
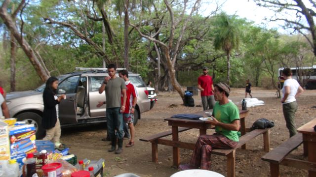
<path id="1" fill-rule="evenodd" d="M 238 144 L 237 131 L 240 128 L 239 110 L 237 106 L 228 100 L 231 92 L 225 83 L 214 86 L 214 98 L 217 101 L 213 108 L 212 120 L 215 125 L 213 135 L 201 135 L 197 139 L 189 164 L 180 165 L 180 170 L 197 169 L 209 170 L 211 165 L 211 151 L 214 148 L 230 149 Z"/>

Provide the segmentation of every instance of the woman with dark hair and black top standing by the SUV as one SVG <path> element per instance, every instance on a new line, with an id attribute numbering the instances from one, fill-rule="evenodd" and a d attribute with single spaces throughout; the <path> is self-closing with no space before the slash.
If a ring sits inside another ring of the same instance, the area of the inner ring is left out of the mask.
<path id="1" fill-rule="evenodd" d="M 50 77 L 46 81 L 46 87 L 43 92 L 44 112 L 42 118 L 42 126 L 46 129 L 46 136 L 43 140 L 50 140 L 55 143 L 55 147 L 60 147 L 60 122 L 58 119 L 58 104 L 66 95 L 57 97 L 56 90 L 58 87 L 58 79 Z"/>

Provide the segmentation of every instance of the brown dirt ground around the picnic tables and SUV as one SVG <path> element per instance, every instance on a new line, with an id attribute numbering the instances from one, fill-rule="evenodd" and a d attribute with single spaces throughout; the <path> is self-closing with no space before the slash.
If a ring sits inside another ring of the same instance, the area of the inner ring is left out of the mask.
<path id="1" fill-rule="evenodd" d="M 249 116 L 246 118 L 246 127 L 250 127 L 258 118 L 268 118 L 275 122 L 270 134 L 270 147 L 276 148 L 289 137 L 288 130 L 285 127 L 285 121 L 282 114 L 280 99 L 276 98 L 276 90 L 264 90 L 260 88 L 252 89 L 253 97 L 263 100 L 265 105 L 248 108 Z M 241 109 L 240 101 L 244 97 L 244 89 L 232 89 L 230 99 Z M 86 126 L 77 126 L 62 129 L 62 143 L 70 148 L 70 152 L 77 155 L 77 159 L 98 160 L 105 159 L 104 176 L 113 177 L 123 173 L 133 173 L 140 177 L 170 177 L 178 172 L 178 169 L 172 166 L 172 148 L 158 145 L 158 163 L 153 163 L 151 144 L 139 141 L 159 132 L 171 130 L 164 118 L 171 117 L 180 113 L 195 113 L 202 111 L 200 107 L 200 96 L 195 95 L 196 107 L 185 107 L 182 100 L 175 92 L 160 92 L 158 102 L 155 107 L 141 115 L 141 119 L 135 126 L 135 146 L 124 148 L 121 154 L 108 152 L 109 142 L 102 142 L 101 138 L 106 136 L 106 124 L 94 124 Z M 307 123 L 316 116 L 316 90 L 306 90 L 298 98 L 298 111 L 296 112 L 296 127 Z M 208 130 L 211 134 L 213 130 Z M 198 137 L 198 130 L 192 129 L 180 133 L 180 140 L 195 143 Z M 167 138 L 171 139 L 171 136 Z M 128 140 L 124 140 L 124 145 Z M 181 149 L 181 163 L 189 161 L 192 150 Z M 236 177 L 269 177 L 269 163 L 262 161 L 263 137 L 247 143 L 247 149 L 237 149 L 236 152 Z M 303 147 L 300 146 L 294 150 L 290 156 L 299 159 L 305 159 Z M 212 155 L 212 171 L 226 176 L 226 157 Z M 298 170 L 280 166 L 281 177 L 301 177 L 307 176 L 305 170 Z"/>

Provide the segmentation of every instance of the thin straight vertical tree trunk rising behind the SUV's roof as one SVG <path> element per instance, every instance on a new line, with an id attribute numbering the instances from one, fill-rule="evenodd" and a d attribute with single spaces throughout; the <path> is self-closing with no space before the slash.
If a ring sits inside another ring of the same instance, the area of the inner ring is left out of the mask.
<path id="1" fill-rule="evenodd" d="M 129 0 L 125 1 L 125 16 L 124 16 L 124 67 L 128 71 L 129 64 L 128 64 L 128 49 L 129 49 L 129 42 L 128 42 L 128 5 Z"/>

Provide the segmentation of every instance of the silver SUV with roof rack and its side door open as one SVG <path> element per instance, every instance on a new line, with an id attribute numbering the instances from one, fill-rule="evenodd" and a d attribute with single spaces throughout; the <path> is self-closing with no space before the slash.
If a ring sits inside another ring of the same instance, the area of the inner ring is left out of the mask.
<path id="1" fill-rule="evenodd" d="M 105 92 L 99 94 L 98 91 L 105 76 L 109 75 L 102 68 L 86 68 L 83 71 L 58 76 L 57 93 L 66 94 L 67 97 L 59 104 L 61 126 L 106 121 L 106 105 L 97 108 L 99 101 L 106 101 Z M 140 75 L 129 72 L 128 76 L 138 92 L 134 113 L 134 124 L 136 124 L 141 118 L 141 113 L 150 110 L 151 103 L 148 99 L 148 90 Z M 11 117 L 17 118 L 18 121 L 34 123 L 37 128 L 37 138 L 42 138 L 44 135 L 44 129 L 41 126 L 44 88 L 45 84 L 35 90 L 10 92 L 6 95 Z"/>

